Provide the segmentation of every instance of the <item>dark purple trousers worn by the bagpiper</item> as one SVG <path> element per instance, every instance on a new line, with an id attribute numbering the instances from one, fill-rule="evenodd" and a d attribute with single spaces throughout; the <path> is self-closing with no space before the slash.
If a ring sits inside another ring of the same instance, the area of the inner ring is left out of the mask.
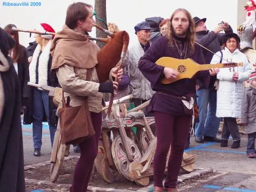
<path id="1" fill-rule="evenodd" d="M 71 192 L 87 191 L 88 183 L 91 178 L 93 163 L 98 154 L 98 143 L 101 131 L 102 115 L 91 112 L 92 123 L 95 135 L 79 143 L 80 158 L 74 170 Z"/>

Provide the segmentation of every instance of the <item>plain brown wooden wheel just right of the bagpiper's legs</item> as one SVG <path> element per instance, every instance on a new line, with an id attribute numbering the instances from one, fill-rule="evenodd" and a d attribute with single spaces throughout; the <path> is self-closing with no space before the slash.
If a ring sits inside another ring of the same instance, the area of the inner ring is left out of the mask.
<path id="1" fill-rule="evenodd" d="M 108 158 L 106 157 L 106 152 L 101 139 L 99 140 L 98 154 L 94 161 L 94 164 L 97 172 L 100 173 L 105 182 L 113 183 L 116 180 L 115 176 L 111 172 Z"/>

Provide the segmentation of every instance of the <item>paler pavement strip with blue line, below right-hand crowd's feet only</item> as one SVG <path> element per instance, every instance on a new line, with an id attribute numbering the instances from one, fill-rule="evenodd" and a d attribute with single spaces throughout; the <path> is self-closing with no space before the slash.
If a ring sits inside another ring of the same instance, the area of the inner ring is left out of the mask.
<path id="1" fill-rule="evenodd" d="M 227 147 L 221 147 L 220 143 L 205 142 L 198 144 L 194 137 L 190 137 L 190 148 L 187 153 L 196 154 L 195 168 L 213 168 L 224 172 L 256 174 L 252 164 L 256 159 L 246 156 L 247 137 L 241 137 L 241 147 L 232 149 L 232 140 L 229 139 Z M 255 187 L 256 188 L 256 187 Z"/>

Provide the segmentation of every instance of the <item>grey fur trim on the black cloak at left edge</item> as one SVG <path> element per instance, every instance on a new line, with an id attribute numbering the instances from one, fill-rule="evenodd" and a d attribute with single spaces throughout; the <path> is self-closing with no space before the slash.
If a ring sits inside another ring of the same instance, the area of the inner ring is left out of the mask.
<path id="1" fill-rule="evenodd" d="M 2 51 L 0 50 L 0 61 L 2 62 L 3 65 L 0 65 L 0 123 L 3 115 L 3 110 L 4 110 L 4 104 L 5 104 L 5 90 L 4 90 L 4 84 L 3 80 L 1 77 L 1 72 L 8 71 L 10 66 L 8 63 L 7 58 L 4 56 Z"/>

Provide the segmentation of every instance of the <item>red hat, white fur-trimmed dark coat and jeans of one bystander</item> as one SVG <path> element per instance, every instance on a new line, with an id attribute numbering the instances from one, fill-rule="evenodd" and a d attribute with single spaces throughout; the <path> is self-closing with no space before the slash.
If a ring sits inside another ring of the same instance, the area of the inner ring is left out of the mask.
<path id="1" fill-rule="evenodd" d="M 48 24 L 41 24 L 41 31 L 54 32 Z M 50 54 L 52 35 L 41 35 L 42 38 L 50 39 L 42 50 L 42 45 L 37 44 L 33 54 L 33 59 L 29 65 L 30 82 L 40 84 L 42 86 L 57 87 L 58 80 L 56 74 L 51 72 L 52 56 Z M 37 38 L 37 37 L 36 37 Z M 42 121 L 45 116 L 49 124 L 51 144 L 53 146 L 54 135 L 57 130 L 57 107 L 53 104 L 49 93 L 38 88 L 31 88 L 31 102 L 28 109 L 25 109 L 24 124 L 33 122 L 33 142 L 34 155 L 40 156 L 42 145 Z"/>

